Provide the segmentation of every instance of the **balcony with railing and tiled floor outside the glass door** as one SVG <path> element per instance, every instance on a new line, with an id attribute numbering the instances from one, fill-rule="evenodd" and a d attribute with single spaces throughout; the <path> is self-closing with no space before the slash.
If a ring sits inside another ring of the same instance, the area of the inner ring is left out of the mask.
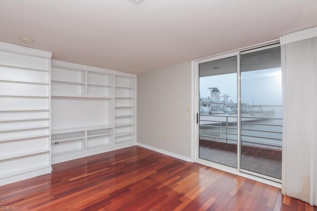
<path id="1" fill-rule="evenodd" d="M 237 168 L 237 117 L 200 116 L 199 157 Z M 282 119 L 241 118 L 241 169 L 281 178 Z"/>

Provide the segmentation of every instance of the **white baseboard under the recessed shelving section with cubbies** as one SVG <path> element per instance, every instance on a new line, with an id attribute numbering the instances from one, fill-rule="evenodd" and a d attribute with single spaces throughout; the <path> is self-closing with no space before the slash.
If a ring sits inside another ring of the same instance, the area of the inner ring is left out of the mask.
<path id="1" fill-rule="evenodd" d="M 122 149 L 122 148 L 126 148 L 126 147 L 131 147 L 131 146 L 135 146 L 135 145 L 136 145 L 135 141 L 133 141 L 133 142 L 127 142 L 127 143 L 117 144 L 117 145 L 113 145 L 113 146 L 101 147 L 101 148 L 92 149 L 92 150 L 83 151 L 83 152 L 72 153 L 69 155 L 52 157 L 52 164 L 57 164 L 57 163 L 65 162 L 65 161 L 75 160 L 78 158 L 84 158 L 87 156 L 97 155 L 100 153 L 109 152 L 109 151 Z"/>

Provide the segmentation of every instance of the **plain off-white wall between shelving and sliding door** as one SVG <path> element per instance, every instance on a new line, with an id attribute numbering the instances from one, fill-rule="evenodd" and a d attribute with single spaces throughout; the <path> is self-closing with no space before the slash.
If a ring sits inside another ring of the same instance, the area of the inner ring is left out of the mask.
<path id="1" fill-rule="evenodd" d="M 138 143 L 190 158 L 190 111 L 189 62 L 137 76 Z"/>

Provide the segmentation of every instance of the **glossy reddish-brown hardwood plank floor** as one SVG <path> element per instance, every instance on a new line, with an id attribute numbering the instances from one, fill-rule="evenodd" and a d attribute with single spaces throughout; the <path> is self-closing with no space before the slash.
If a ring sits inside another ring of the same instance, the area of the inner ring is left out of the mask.
<path id="1" fill-rule="evenodd" d="M 0 206 L 20 211 L 317 211 L 283 197 L 279 188 L 138 146 L 55 164 L 52 174 L 1 186 Z"/>

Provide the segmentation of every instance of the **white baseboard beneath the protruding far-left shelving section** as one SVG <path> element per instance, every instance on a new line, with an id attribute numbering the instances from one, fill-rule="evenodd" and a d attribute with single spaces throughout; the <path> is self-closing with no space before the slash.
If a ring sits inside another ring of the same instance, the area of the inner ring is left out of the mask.
<path id="1" fill-rule="evenodd" d="M 0 179 L 0 186 L 1 185 L 6 185 L 9 183 L 13 183 L 13 182 L 18 182 L 24 179 L 29 179 L 35 176 L 40 176 L 43 174 L 47 174 L 47 173 L 51 173 L 52 171 L 52 167 L 47 167 L 44 169 L 37 169 L 37 170 L 32 170 L 29 172 L 25 172 L 25 173 L 20 173 L 20 174 L 16 174 L 13 176 L 9 176 L 9 177 L 5 177 L 5 178 L 1 178 Z"/>

